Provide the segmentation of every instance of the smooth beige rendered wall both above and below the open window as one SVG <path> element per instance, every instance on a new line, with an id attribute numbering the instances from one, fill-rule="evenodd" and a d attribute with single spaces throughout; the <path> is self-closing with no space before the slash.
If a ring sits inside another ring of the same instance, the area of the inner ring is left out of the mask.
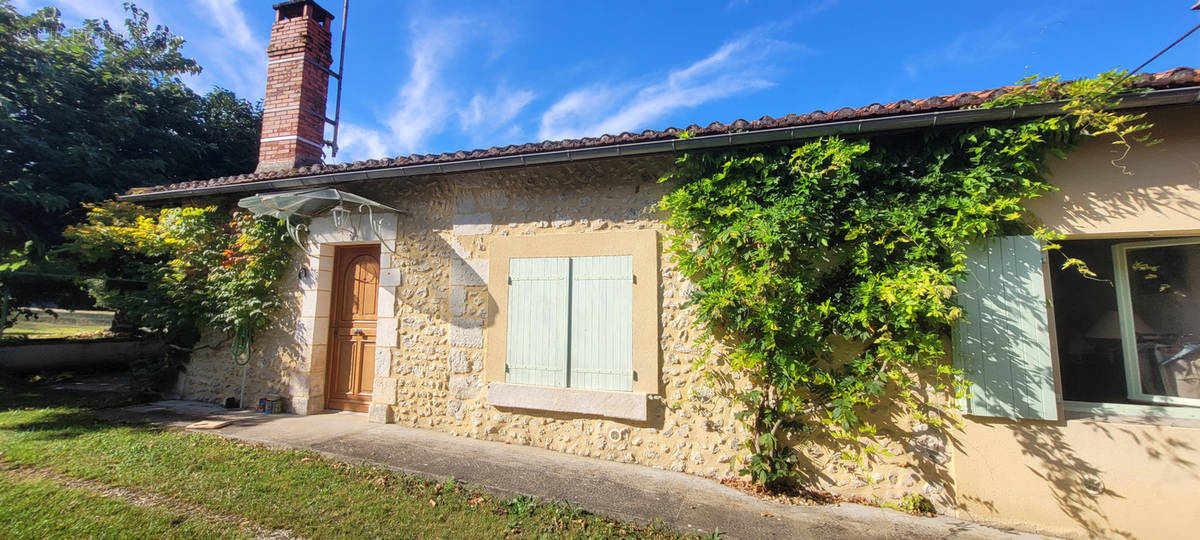
<path id="1" fill-rule="evenodd" d="M 1134 148 L 1123 169 L 1111 162 L 1121 150 L 1103 140 L 1054 160 L 1062 191 L 1036 200 L 1037 216 L 1069 238 L 1200 233 L 1200 110 L 1150 120 L 1163 142 Z M 967 418 L 952 446 L 965 517 L 1079 538 L 1200 534 L 1198 421 Z"/>

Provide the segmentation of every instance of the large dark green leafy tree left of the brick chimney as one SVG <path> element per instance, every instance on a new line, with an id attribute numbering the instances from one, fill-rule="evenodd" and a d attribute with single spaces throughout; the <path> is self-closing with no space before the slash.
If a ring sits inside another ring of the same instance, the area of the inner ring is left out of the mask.
<path id="1" fill-rule="evenodd" d="M 254 167 L 262 106 L 192 91 L 181 77 L 200 67 L 184 38 L 125 8 L 124 31 L 68 29 L 56 8 L 23 16 L 0 0 L 0 298 L 2 274 L 41 259 L 82 203 Z"/>

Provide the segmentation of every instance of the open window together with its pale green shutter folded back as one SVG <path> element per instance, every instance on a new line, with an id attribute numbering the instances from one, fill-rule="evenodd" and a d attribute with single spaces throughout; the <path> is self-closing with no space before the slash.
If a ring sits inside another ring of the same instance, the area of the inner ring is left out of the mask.
<path id="1" fill-rule="evenodd" d="M 1031 236 L 968 253 L 958 284 L 966 320 L 954 329 L 971 382 L 966 414 L 1057 420 L 1060 403 L 1117 414 L 1200 406 L 1200 239 L 1061 244 L 1054 264 Z"/>

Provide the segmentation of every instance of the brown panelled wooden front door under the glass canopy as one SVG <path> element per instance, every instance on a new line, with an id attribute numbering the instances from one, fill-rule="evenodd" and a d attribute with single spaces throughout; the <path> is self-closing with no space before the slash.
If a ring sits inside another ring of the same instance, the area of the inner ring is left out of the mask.
<path id="1" fill-rule="evenodd" d="M 329 310 L 325 407 L 366 412 L 374 383 L 379 246 L 346 246 L 334 252 Z"/>

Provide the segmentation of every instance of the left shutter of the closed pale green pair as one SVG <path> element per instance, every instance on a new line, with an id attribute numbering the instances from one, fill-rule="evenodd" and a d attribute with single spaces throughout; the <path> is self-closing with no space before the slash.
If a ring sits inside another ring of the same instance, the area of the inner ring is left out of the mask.
<path id="1" fill-rule="evenodd" d="M 570 259 L 509 259 L 505 380 L 566 386 Z"/>

